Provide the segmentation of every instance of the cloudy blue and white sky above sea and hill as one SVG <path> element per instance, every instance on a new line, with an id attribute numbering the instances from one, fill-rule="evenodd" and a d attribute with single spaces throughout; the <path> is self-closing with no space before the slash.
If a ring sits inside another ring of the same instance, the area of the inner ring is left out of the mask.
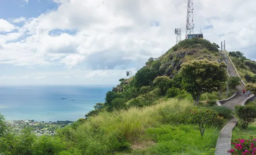
<path id="1" fill-rule="evenodd" d="M 194 0 L 194 33 L 256 60 L 255 0 Z M 187 0 L 0 0 L 0 85 L 116 85 L 185 39 Z"/>

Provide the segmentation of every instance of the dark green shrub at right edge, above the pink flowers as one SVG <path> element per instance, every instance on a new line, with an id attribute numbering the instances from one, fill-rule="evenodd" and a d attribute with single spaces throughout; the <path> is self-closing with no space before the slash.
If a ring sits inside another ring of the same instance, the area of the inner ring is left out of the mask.
<path id="1" fill-rule="evenodd" d="M 256 121 L 256 106 L 235 106 L 235 114 L 237 115 L 239 121 L 241 121 L 241 126 L 243 129 L 247 129 L 249 124 Z"/>

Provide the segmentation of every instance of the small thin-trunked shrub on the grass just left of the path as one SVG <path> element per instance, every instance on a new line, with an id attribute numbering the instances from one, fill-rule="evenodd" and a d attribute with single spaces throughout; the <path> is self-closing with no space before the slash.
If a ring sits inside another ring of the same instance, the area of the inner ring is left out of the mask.
<path id="1" fill-rule="evenodd" d="M 194 109 L 191 110 L 190 122 L 199 125 L 200 134 L 203 136 L 207 126 L 222 126 L 224 120 L 213 109 Z"/>

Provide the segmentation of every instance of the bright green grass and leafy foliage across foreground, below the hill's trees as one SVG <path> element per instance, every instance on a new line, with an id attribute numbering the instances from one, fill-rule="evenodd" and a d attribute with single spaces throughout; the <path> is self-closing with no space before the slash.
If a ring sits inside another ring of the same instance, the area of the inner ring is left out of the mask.
<path id="1" fill-rule="evenodd" d="M 0 152 L 1 155 L 110 155 L 131 151 L 137 141 L 152 144 L 132 153 L 167 155 L 171 151 L 198 155 L 212 152 L 220 128 L 215 123 L 208 126 L 201 138 L 197 124 L 189 120 L 194 108 L 191 101 L 172 98 L 142 109 L 102 111 L 65 126 L 56 136 L 36 137 L 31 128 L 24 128 L 18 134 L 8 131 L 0 138 Z"/>

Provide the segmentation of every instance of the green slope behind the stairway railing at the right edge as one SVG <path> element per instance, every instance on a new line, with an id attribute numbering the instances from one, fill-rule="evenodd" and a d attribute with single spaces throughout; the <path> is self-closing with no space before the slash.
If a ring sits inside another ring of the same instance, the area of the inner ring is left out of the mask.
<path id="1" fill-rule="evenodd" d="M 256 83 L 256 61 L 244 57 L 243 52 L 228 52 L 229 57 L 245 83 Z"/>

